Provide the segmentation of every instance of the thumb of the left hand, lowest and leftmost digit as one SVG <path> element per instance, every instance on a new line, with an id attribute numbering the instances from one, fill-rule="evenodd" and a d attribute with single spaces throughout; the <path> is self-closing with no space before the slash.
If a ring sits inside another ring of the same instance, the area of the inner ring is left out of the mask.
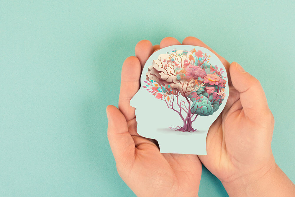
<path id="1" fill-rule="evenodd" d="M 135 153 L 135 143 L 128 132 L 127 122 L 118 108 L 108 105 L 108 140 L 117 164 L 132 161 Z"/>

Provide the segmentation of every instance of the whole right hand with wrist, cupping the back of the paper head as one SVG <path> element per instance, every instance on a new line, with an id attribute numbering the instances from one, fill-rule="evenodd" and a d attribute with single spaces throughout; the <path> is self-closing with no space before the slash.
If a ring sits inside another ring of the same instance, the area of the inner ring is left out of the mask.
<path id="1" fill-rule="evenodd" d="M 201 162 L 221 180 L 229 195 L 294 195 L 294 184 L 276 165 L 271 151 L 274 118 L 260 82 L 197 38 L 187 37 L 183 45 L 209 49 L 228 74 L 229 97 L 209 128 L 207 155 L 199 155 Z"/>

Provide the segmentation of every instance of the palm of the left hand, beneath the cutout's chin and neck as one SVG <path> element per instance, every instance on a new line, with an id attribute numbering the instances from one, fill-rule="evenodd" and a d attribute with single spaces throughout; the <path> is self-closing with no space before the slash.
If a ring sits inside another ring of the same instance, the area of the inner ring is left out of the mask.
<path id="1" fill-rule="evenodd" d="M 133 121 L 135 120 L 132 119 L 130 122 Z M 136 129 L 133 123 L 129 129 Z M 135 142 L 135 154 L 131 159 L 131 167 L 118 169 L 123 180 L 128 176 L 124 181 L 130 188 L 137 185 L 141 190 L 149 191 L 150 196 L 159 193 L 172 196 L 197 195 L 201 163 L 196 155 L 162 154 L 150 140 L 138 135 L 132 137 Z"/>

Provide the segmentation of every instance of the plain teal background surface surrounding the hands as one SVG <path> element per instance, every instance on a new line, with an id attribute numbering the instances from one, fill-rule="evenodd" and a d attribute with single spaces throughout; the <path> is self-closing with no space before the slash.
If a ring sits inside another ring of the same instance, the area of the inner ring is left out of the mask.
<path id="1" fill-rule="evenodd" d="M 0 1 L 0 196 L 135 196 L 105 109 L 142 39 L 195 36 L 258 78 L 276 162 L 295 182 L 291 1 Z M 199 196 L 226 196 L 203 167 Z"/>

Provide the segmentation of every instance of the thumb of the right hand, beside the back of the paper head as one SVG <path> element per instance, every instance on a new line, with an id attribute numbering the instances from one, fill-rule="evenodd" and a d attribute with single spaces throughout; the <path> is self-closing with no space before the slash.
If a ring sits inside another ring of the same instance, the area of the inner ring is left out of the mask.
<path id="1" fill-rule="evenodd" d="M 240 102 L 248 118 L 257 117 L 260 113 L 269 110 L 263 88 L 254 76 L 236 62 L 230 64 L 230 76 L 232 85 L 240 92 Z"/>

